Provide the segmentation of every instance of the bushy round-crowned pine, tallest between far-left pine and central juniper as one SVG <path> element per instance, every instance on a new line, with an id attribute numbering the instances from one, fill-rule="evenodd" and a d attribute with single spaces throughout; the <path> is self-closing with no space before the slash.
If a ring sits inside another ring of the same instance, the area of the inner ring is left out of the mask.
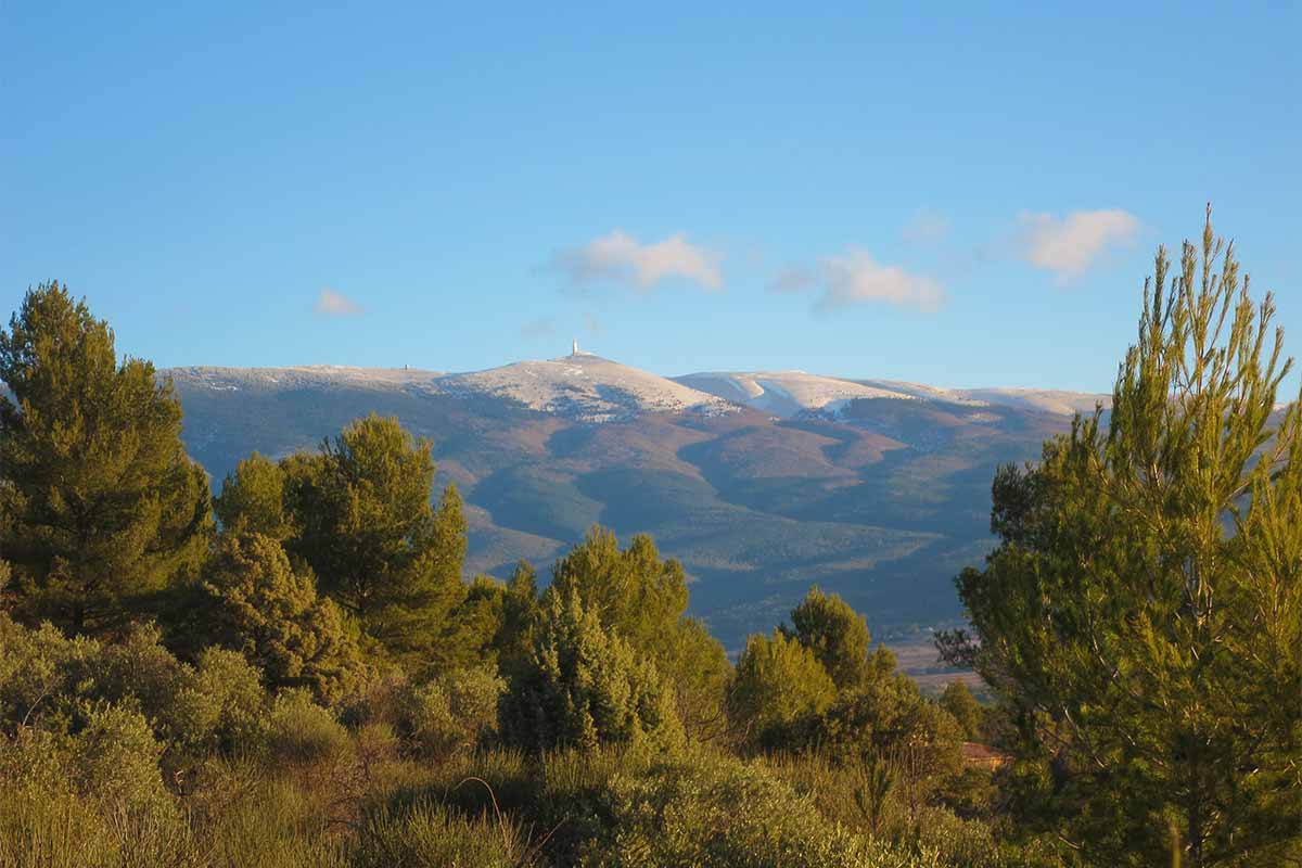
<path id="1" fill-rule="evenodd" d="M 431 505 L 430 452 L 431 444 L 397 419 L 372 414 L 319 454 L 280 462 L 285 518 L 275 515 L 275 475 L 258 462 L 241 465 L 232 485 L 236 521 L 288 528 L 286 550 L 311 567 L 322 591 L 357 617 L 371 640 L 409 668 L 456 661 L 487 642 L 474 638 L 467 645 L 453 617 L 466 601 L 466 522 L 454 485 L 437 510 Z"/>

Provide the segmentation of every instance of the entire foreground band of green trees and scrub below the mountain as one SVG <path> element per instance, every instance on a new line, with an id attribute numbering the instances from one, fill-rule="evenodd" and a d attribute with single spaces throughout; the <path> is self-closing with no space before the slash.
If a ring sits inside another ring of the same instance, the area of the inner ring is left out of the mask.
<path id="1" fill-rule="evenodd" d="M 395 419 L 210 497 L 171 384 L 29 292 L 0 867 L 1298 864 L 1302 422 L 1216 245 L 1159 254 L 1111 424 L 995 480 L 974 634 L 940 642 L 993 707 L 923 696 L 818 588 L 733 665 L 647 536 L 467 582 Z"/>

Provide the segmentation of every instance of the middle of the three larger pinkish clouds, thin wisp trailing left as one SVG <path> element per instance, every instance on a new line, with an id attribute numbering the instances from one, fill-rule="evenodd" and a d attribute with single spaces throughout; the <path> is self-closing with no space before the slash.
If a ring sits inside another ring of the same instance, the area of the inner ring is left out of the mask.
<path id="1" fill-rule="evenodd" d="M 840 256 L 823 258 L 818 268 L 793 268 L 777 276 L 769 289 L 801 293 L 822 289 L 815 310 L 831 311 L 858 302 L 884 302 L 934 311 L 945 301 L 944 288 L 898 265 L 883 265 L 866 250 L 852 247 Z"/>

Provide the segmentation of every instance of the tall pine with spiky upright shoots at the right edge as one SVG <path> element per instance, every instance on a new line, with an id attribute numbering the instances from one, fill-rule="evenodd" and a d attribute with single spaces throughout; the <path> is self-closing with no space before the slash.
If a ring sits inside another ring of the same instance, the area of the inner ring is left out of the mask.
<path id="1" fill-rule="evenodd" d="M 1224 258 L 1221 254 L 1224 252 Z M 1219 272 L 1217 268 L 1219 263 Z M 999 548 L 958 579 L 975 664 L 1018 725 L 1023 822 L 1098 864 L 1280 864 L 1302 817 L 1302 415 L 1273 301 L 1211 219 L 1159 250 L 1095 413 L 996 478 Z"/>

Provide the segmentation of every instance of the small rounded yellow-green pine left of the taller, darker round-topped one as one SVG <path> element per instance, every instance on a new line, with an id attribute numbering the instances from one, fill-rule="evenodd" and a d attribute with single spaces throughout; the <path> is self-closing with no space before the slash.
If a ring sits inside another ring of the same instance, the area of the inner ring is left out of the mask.
<path id="1" fill-rule="evenodd" d="M 771 639 L 746 642 L 728 691 L 728 718 L 745 747 L 776 747 L 797 722 L 835 700 L 836 685 L 814 652 L 776 630 Z"/>

